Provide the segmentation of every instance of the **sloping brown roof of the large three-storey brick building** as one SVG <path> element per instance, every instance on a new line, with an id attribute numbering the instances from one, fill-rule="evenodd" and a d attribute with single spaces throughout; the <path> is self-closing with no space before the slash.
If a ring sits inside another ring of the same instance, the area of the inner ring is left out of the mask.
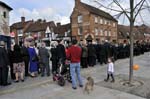
<path id="1" fill-rule="evenodd" d="M 116 21 L 118 22 L 114 17 L 112 17 L 109 13 L 106 13 L 98 8 L 95 8 L 91 5 L 88 5 L 88 4 L 85 4 L 85 3 L 82 3 L 81 4 L 88 10 L 90 11 L 91 13 L 93 14 L 96 14 L 96 15 L 99 15 L 99 16 L 102 16 L 102 17 L 105 17 L 107 19 L 110 19 L 110 20 L 113 20 L 113 21 Z"/>

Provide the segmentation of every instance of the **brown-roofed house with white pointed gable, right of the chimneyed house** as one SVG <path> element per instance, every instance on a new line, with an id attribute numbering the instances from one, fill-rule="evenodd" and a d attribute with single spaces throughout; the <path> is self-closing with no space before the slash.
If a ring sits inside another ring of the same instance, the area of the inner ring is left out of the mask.
<path id="1" fill-rule="evenodd" d="M 48 35 L 46 35 L 46 30 L 49 29 Z M 25 36 L 32 36 L 36 39 L 36 42 L 40 42 L 43 38 L 50 38 L 56 25 L 53 21 L 46 22 L 46 20 L 39 19 L 35 22 L 29 24 L 28 28 L 24 30 Z"/>

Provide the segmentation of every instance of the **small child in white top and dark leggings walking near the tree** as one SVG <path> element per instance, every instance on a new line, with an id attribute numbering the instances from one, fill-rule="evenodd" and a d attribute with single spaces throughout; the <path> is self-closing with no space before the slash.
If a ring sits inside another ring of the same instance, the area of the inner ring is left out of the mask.
<path id="1" fill-rule="evenodd" d="M 113 58 L 108 58 L 108 67 L 107 67 L 107 79 L 104 79 L 104 81 L 108 81 L 109 80 L 109 76 L 111 76 L 112 81 L 111 82 L 115 82 L 114 79 L 114 59 Z"/>

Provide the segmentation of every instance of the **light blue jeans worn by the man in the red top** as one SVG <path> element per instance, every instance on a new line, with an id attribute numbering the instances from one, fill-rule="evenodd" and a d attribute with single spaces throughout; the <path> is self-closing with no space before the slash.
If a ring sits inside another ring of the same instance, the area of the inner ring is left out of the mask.
<path id="1" fill-rule="evenodd" d="M 81 74 L 80 74 L 80 63 L 71 63 L 70 64 L 70 74 L 72 79 L 72 87 L 77 87 L 76 76 L 79 81 L 79 85 L 83 85 Z"/>

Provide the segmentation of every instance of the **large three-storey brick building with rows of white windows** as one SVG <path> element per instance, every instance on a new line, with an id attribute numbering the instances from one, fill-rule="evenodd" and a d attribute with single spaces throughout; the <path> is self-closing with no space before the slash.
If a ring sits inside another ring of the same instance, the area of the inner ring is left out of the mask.
<path id="1" fill-rule="evenodd" d="M 78 40 L 117 40 L 117 20 L 98 8 L 75 0 L 70 19 L 72 36 Z"/>

